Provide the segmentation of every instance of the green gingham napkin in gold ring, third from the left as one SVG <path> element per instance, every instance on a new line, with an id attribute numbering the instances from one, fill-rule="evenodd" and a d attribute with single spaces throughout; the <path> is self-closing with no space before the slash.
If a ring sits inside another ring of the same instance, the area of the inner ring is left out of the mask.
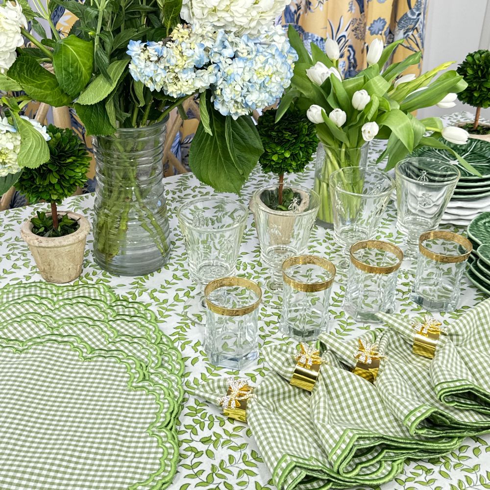
<path id="1" fill-rule="evenodd" d="M 364 336 L 366 339 L 367 336 Z M 429 375 L 431 360 L 412 353 L 412 347 L 392 329 L 372 330 L 382 359 L 374 387 L 388 410 L 411 435 L 466 437 L 490 432 L 490 420 L 474 410 L 461 410 L 442 403 Z M 320 341 L 348 367 L 356 365 L 357 339 L 323 334 Z"/>

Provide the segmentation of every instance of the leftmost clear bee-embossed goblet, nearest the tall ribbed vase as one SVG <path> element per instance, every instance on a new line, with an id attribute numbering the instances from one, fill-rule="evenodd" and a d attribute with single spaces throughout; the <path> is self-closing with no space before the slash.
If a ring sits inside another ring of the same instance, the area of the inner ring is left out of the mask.
<path id="1" fill-rule="evenodd" d="M 202 288 L 235 271 L 247 217 L 248 209 L 229 197 L 199 197 L 185 202 L 177 211 L 189 271 L 199 285 L 184 311 L 196 323 L 204 319 Z"/>

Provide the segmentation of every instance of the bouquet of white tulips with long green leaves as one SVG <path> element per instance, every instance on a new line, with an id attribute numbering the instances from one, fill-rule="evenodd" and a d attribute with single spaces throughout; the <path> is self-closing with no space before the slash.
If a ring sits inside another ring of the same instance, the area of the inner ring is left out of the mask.
<path id="1" fill-rule="evenodd" d="M 375 39 L 368 48 L 368 68 L 352 78 L 343 79 L 338 70 L 340 49 L 331 39 L 325 42 L 325 51 L 311 45 L 311 55 L 293 28 L 289 30 L 291 45 L 298 54 L 291 86 L 281 99 L 277 111 L 280 119 L 294 104 L 306 111 L 315 123 L 317 135 L 323 145 L 325 157 L 317 166 L 315 187 L 322 205 L 319 220 L 332 222 L 328 178 L 339 168 L 366 163 L 368 142 L 387 140 L 387 147 L 378 161 L 387 158 L 387 170 L 419 146 L 445 148 L 451 151 L 461 165 L 477 173 L 456 152 L 447 147 L 444 139 L 464 144 L 468 138 L 458 127 L 443 128 L 439 118 L 418 120 L 412 112 L 422 107 L 438 104 L 452 107 L 456 93 L 465 89 L 466 82 L 454 70 L 446 70 L 451 63 L 418 77 L 401 75 L 407 68 L 418 64 L 420 52 L 387 67 L 394 49 L 402 42 L 396 41 L 384 48 Z"/>

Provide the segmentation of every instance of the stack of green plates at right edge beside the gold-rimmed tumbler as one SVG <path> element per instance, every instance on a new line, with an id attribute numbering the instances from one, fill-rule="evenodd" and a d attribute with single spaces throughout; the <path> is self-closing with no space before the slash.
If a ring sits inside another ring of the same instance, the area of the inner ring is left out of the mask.
<path id="1" fill-rule="evenodd" d="M 478 289 L 490 294 L 490 213 L 481 213 L 471 221 L 467 235 L 473 251 L 466 275 Z"/>

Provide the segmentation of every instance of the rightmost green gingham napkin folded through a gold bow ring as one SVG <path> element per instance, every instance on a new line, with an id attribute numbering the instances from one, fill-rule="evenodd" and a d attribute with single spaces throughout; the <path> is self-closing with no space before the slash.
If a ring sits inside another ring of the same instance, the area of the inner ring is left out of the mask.
<path id="1" fill-rule="evenodd" d="M 380 314 L 406 341 L 414 339 L 413 320 Z M 434 359 L 428 363 L 431 385 L 445 405 L 471 409 L 487 416 L 490 426 L 490 299 L 482 301 L 443 327 Z"/>

